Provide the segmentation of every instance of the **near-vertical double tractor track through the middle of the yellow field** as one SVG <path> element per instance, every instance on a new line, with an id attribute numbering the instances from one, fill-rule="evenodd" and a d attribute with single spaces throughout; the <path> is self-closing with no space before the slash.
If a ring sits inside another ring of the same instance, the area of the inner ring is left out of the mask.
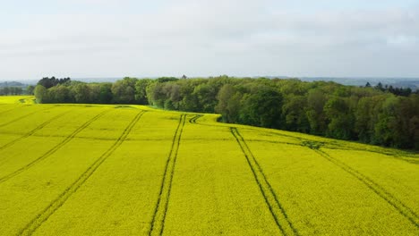
<path id="1" fill-rule="evenodd" d="M 172 147 L 170 147 L 169 155 L 165 165 L 165 171 L 161 180 L 160 190 L 158 192 L 158 200 L 154 208 L 154 214 L 150 223 L 149 235 L 162 235 L 165 227 L 167 206 L 172 189 L 172 181 L 175 173 L 175 164 L 177 152 L 180 146 L 182 132 L 184 131 L 184 123 L 186 122 L 186 114 L 181 114 L 179 123 L 177 124 L 175 134 L 173 136 Z"/>

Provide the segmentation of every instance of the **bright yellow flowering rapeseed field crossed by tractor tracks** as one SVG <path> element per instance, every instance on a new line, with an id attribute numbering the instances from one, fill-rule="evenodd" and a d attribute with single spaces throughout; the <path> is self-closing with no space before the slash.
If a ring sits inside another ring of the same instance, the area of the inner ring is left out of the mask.
<path id="1" fill-rule="evenodd" d="M 0 235 L 419 235 L 419 154 L 0 97 Z"/>

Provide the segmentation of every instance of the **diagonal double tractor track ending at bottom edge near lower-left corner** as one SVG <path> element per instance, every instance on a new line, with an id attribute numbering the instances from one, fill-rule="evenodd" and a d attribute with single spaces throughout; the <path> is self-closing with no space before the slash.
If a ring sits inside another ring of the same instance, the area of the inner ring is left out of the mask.
<path id="1" fill-rule="evenodd" d="M 81 185 L 83 185 L 84 182 L 86 182 L 90 176 L 96 172 L 98 167 L 104 163 L 107 160 L 107 157 L 111 156 L 115 150 L 122 145 L 126 137 L 130 134 L 130 132 L 133 130 L 133 127 L 137 122 L 140 121 L 141 116 L 145 114 L 145 111 L 141 111 L 139 114 L 137 114 L 133 121 L 131 121 L 128 126 L 124 129 L 121 136 L 116 139 L 115 143 L 107 149 L 101 156 L 98 157 L 98 159 L 91 164 L 88 169 L 81 173 L 81 176 L 73 182 L 66 190 L 64 190 L 63 193 L 61 193 L 58 198 L 53 200 L 49 206 L 47 206 L 42 212 L 40 212 L 37 217 L 32 219 L 30 223 L 28 223 L 22 230 L 19 232 L 20 235 L 31 235 L 33 232 L 35 232 L 39 226 L 42 225 L 42 223 L 45 223 L 47 219 L 53 215 L 56 210 L 58 210 L 61 206 L 64 205 L 65 201 L 70 198 L 74 192 L 80 189 Z"/>

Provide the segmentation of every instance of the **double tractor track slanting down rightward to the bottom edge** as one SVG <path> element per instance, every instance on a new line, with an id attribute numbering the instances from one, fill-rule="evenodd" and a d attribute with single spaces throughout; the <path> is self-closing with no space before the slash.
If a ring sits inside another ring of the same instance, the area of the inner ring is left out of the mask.
<path id="1" fill-rule="evenodd" d="M 270 214 L 273 216 L 275 223 L 277 223 L 279 231 L 284 235 L 299 235 L 293 223 L 289 220 L 288 215 L 286 215 L 284 207 L 279 203 L 277 194 L 270 185 L 265 173 L 263 173 L 261 165 L 253 156 L 251 149 L 247 146 L 243 136 L 235 127 L 230 127 L 230 131 L 246 157 L 247 164 L 249 164 L 252 170 L 253 177 L 268 205 Z"/>

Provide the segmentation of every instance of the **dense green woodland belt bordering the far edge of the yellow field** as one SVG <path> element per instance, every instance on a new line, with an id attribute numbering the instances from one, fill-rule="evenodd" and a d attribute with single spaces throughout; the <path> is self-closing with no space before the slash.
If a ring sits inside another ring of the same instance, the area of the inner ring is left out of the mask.
<path id="1" fill-rule="evenodd" d="M 418 91 L 382 85 L 360 88 L 325 81 L 227 76 L 124 78 L 115 83 L 65 80 L 50 89 L 38 84 L 35 96 L 38 103 L 139 104 L 219 113 L 223 122 L 419 149 Z"/>

